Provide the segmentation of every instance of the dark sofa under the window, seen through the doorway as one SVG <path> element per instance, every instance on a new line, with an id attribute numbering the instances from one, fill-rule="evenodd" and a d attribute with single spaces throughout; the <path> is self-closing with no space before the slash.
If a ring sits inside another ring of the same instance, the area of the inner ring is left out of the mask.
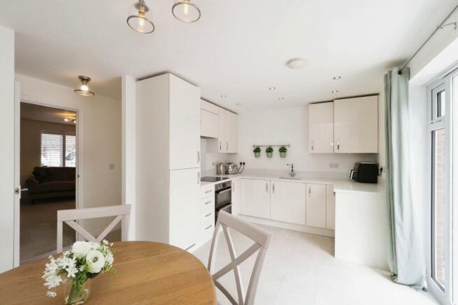
<path id="1" fill-rule="evenodd" d="M 75 197 L 75 168 L 44 168 L 37 166 L 25 181 L 28 200 Z"/>

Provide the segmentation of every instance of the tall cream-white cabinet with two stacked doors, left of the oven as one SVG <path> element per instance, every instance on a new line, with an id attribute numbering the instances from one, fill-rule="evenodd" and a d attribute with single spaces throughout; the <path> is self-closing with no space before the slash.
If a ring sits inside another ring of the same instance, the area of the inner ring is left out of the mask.
<path id="1" fill-rule="evenodd" d="M 200 89 L 172 74 L 136 82 L 136 238 L 198 239 Z"/>

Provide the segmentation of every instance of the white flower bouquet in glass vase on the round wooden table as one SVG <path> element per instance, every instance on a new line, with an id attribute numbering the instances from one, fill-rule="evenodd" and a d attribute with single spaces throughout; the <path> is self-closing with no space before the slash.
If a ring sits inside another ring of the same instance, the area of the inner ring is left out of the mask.
<path id="1" fill-rule="evenodd" d="M 108 241 L 101 244 L 92 241 L 76 241 L 69 251 L 65 251 L 59 258 L 50 256 L 42 278 L 46 293 L 50 297 L 57 295 L 56 288 L 61 283 L 71 280 L 71 290 L 66 297 L 66 304 L 83 304 L 89 297 L 89 289 L 85 289 L 88 279 L 94 278 L 104 271 L 113 272 L 113 253 Z"/>

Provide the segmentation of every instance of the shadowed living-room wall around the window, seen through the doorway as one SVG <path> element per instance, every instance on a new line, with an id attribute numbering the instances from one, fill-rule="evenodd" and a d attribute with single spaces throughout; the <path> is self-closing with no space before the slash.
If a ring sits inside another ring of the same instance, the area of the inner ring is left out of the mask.
<path id="1" fill-rule="evenodd" d="M 20 181 L 22 186 L 25 185 L 25 180 L 31 177 L 34 167 L 41 165 L 41 131 L 76 133 L 76 126 L 21 119 Z"/>

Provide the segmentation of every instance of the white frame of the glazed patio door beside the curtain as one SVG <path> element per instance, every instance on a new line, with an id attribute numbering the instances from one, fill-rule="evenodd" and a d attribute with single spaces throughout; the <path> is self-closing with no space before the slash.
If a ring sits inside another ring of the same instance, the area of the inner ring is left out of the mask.
<path id="1" fill-rule="evenodd" d="M 427 151 L 428 151 L 428 173 L 429 173 L 429 188 L 428 188 L 428 219 L 430 230 L 429 230 L 429 238 L 427 242 L 427 284 L 429 291 L 431 294 L 433 294 L 442 304 L 452 304 L 452 299 L 454 295 L 454 285 L 453 285 L 453 278 L 452 278 L 452 205 L 450 202 L 453 202 L 453 196 L 452 196 L 452 191 L 454 188 L 452 188 L 452 176 L 457 174 L 457 170 L 452 170 L 451 165 L 457 164 L 458 166 L 458 158 L 456 159 L 455 162 L 452 162 L 453 154 L 452 152 L 455 150 L 454 146 L 458 145 L 457 140 L 454 139 L 454 134 L 453 133 L 453 125 L 452 125 L 452 117 L 457 117 L 457 115 L 453 112 L 453 107 L 452 107 L 452 76 L 449 75 L 448 77 L 444 77 L 442 79 L 436 80 L 435 82 L 432 82 L 428 87 L 427 87 Z M 445 89 L 445 115 L 442 117 L 436 117 L 436 112 L 437 112 L 437 103 L 435 101 L 434 96 Z M 435 102 L 435 103 L 433 103 Z M 432 244 L 432 238 L 434 235 L 434 222 L 433 222 L 433 209 L 432 209 L 432 204 L 433 204 L 433 186 L 434 186 L 434 181 L 433 181 L 433 137 L 432 133 L 434 131 L 440 130 L 444 128 L 445 129 L 445 144 L 444 144 L 444 151 L 445 151 L 445 158 L 444 158 L 444 177 L 445 177 L 445 183 L 444 183 L 444 209 L 445 209 L 445 215 L 448 215 L 449 217 L 446 217 L 444 219 L 444 245 L 443 245 L 443 251 L 445 255 L 445 283 L 444 283 L 444 290 L 441 289 L 441 285 L 439 285 L 436 280 L 433 278 L 432 275 L 432 265 L 434 264 L 433 262 L 433 244 Z M 456 150 L 455 150 L 456 151 Z M 448 181 L 447 181 L 448 180 Z M 455 243 L 456 246 L 456 243 Z M 457 279 L 458 281 L 458 279 Z"/>

